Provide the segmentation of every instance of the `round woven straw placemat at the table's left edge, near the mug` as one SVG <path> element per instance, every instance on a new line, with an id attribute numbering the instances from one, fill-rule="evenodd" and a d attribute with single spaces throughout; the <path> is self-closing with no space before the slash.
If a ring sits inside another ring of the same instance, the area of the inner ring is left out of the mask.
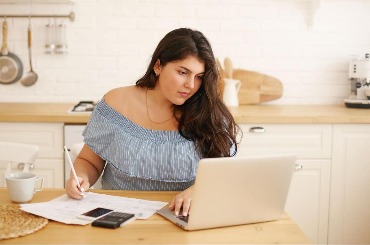
<path id="1" fill-rule="evenodd" d="M 16 204 L 0 205 L 0 240 L 21 237 L 43 228 L 49 220 L 19 209 Z"/>

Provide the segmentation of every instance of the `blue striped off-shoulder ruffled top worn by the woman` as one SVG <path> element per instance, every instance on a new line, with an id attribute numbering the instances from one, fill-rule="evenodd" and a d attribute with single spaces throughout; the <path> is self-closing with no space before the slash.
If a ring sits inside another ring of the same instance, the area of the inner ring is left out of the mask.
<path id="1" fill-rule="evenodd" d="M 178 131 L 141 127 L 104 97 L 82 135 L 85 144 L 107 161 L 103 189 L 181 191 L 194 184 L 200 160 L 194 142 Z"/>

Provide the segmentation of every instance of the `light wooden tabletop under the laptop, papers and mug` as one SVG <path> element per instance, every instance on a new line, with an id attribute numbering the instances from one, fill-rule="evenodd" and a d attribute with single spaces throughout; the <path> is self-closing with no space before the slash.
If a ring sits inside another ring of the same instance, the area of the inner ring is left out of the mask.
<path id="1" fill-rule="evenodd" d="M 171 201 L 178 193 L 89 191 L 165 202 Z M 43 189 L 35 193 L 29 203 L 50 201 L 63 194 L 65 189 Z M 0 204 L 14 204 L 9 199 L 7 189 L 3 187 L 0 187 L 0 200 Z M 277 221 L 198 231 L 185 231 L 156 213 L 147 220 L 135 220 L 125 227 L 114 230 L 91 225 L 67 225 L 50 220 L 41 230 L 23 237 L 1 240 L 0 244 L 312 244 L 312 242 L 286 213 Z"/>

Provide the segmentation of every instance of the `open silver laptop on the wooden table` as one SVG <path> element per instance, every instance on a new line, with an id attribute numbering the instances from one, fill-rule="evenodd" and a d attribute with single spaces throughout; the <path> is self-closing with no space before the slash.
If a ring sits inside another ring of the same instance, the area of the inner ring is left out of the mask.
<path id="1" fill-rule="evenodd" d="M 190 214 L 157 213 L 185 230 L 282 218 L 296 155 L 201 159 Z"/>

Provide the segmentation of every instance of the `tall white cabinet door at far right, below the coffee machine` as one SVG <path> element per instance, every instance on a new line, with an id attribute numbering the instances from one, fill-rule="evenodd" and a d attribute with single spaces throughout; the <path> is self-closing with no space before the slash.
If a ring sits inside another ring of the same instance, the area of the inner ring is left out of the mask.
<path id="1" fill-rule="evenodd" d="M 370 243 L 370 124 L 334 124 L 329 244 Z"/>

